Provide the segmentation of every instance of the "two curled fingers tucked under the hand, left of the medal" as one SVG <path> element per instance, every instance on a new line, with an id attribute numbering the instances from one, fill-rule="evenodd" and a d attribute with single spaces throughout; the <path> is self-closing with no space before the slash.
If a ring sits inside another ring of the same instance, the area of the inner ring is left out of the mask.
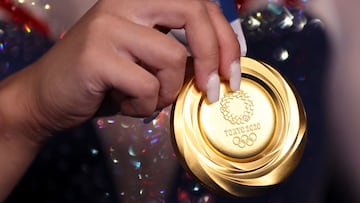
<path id="1" fill-rule="evenodd" d="M 122 102 L 122 113 L 149 115 L 171 104 L 184 81 L 185 47 L 155 29 L 124 19 L 111 21 L 126 29 L 109 33 L 116 52 L 108 61 L 116 63 L 107 64 L 107 72 L 102 74 L 109 75 L 103 79 L 109 81 L 107 86 L 128 95 Z M 136 59 L 141 61 L 136 64 Z"/>

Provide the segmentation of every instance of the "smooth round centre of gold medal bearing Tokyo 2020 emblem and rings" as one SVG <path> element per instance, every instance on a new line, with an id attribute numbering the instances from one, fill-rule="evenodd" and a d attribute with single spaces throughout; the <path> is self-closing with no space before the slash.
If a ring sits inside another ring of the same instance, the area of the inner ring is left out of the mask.
<path id="1" fill-rule="evenodd" d="M 208 145 L 224 158 L 251 158 L 271 141 L 275 130 L 274 103 L 264 88 L 248 78 L 242 89 L 221 86 L 220 101 L 199 106 L 199 128 Z"/>

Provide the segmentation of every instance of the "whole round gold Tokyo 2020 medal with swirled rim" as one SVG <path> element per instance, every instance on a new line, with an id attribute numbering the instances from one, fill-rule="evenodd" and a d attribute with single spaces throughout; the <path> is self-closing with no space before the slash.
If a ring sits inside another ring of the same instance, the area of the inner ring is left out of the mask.
<path id="1" fill-rule="evenodd" d="M 210 104 L 188 81 L 172 111 L 173 143 L 182 164 L 208 188 L 257 194 L 298 164 L 306 116 L 292 86 L 272 67 L 242 57 L 241 89 L 221 84 Z M 239 67 L 240 68 L 240 67 Z"/>

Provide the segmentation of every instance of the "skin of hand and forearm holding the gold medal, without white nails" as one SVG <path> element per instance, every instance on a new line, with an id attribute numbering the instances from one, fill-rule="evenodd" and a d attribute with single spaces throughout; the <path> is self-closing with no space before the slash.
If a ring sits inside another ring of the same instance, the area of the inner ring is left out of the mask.
<path id="1" fill-rule="evenodd" d="M 183 45 L 159 27 L 186 30 L 193 67 L 186 67 Z M 210 75 L 229 80 L 239 57 L 236 35 L 211 2 L 97 2 L 42 58 L 0 83 L 0 201 L 53 132 L 103 107 L 151 115 L 174 101 L 186 68 L 194 69 L 201 91 L 212 91 Z"/>

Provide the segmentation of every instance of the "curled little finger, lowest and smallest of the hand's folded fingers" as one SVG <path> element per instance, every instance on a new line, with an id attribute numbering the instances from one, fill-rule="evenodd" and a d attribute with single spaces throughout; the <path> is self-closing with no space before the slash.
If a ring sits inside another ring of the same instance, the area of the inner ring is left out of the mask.
<path id="1" fill-rule="evenodd" d="M 148 71 L 117 55 L 104 58 L 101 80 L 113 87 L 112 99 L 124 115 L 151 115 L 158 102 L 159 81 Z M 121 68 L 123 67 L 123 68 Z"/>

